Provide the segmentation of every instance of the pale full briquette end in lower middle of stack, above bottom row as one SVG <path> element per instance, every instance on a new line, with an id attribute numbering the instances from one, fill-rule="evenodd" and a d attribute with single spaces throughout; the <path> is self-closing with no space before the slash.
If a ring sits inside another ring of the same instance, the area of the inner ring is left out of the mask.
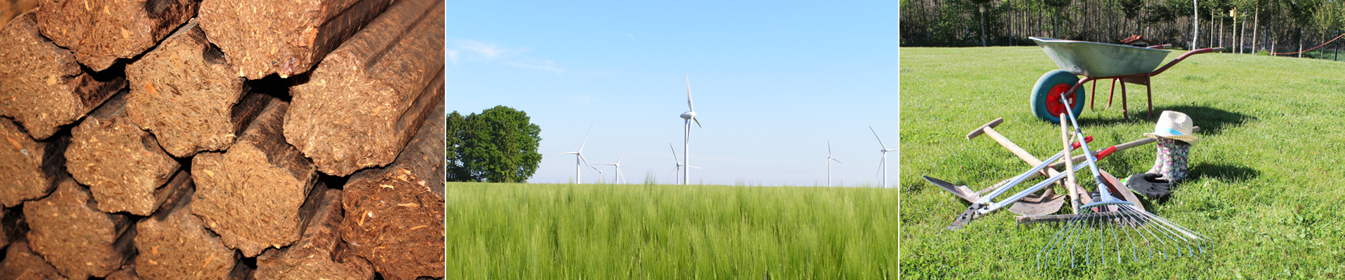
<path id="1" fill-rule="evenodd" d="M 285 101 L 272 101 L 229 151 L 192 158 L 196 195 L 191 211 L 246 257 L 289 245 L 303 233 L 300 207 L 317 172 L 281 136 L 288 108 Z"/>

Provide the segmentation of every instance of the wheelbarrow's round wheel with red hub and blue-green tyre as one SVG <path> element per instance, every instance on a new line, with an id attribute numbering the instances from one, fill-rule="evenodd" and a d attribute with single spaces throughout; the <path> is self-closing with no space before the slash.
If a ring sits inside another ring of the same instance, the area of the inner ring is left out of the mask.
<path id="1" fill-rule="evenodd" d="M 1076 82 L 1079 82 L 1079 77 L 1065 70 L 1053 70 L 1041 75 L 1037 79 L 1037 85 L 1032 88 L 1032 96 L 1029 97 L 1032 113 L 1041 120 L 1059 124 L 1060 113 L 1065 112 L 1065 105 L 1060 102 L 1060 93 L 1069 90 Z M 1083 86 L 1076 89 L 1075 93 L 1065 94 L 1065 100 L 1069 101 L 1069 106 L 1073 109 L 1076 117 L 1084 112 L 1084 98 Z"/>

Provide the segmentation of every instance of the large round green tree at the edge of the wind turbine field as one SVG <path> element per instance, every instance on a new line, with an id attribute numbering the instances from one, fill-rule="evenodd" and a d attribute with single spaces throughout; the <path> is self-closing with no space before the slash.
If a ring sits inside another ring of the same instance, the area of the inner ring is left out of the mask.
<path id="1" fill-rule="evenodd" d="M 527 113 L 495 106 L 480 114 L 445 117 L 447 176 L 451 182 L 525 182 L 537 172 L 542 128 Z"/>

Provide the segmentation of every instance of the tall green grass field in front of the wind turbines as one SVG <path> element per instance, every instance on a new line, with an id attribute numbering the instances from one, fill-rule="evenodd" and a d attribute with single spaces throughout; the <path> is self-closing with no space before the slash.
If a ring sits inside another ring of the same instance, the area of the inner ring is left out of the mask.
<path id="1" fill-rule="evenodd" d="M 448 183 L 448 279 L 896 279 L 894 188 Z"/>

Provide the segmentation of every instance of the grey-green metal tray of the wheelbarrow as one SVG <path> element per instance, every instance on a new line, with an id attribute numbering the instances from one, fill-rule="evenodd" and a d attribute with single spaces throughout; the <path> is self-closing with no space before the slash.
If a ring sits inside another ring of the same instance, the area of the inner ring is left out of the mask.
<path id="1" fill-rule="evenodd" d="M 1171 51 L 1123 44 L 1029 38 L 1046 51 L 1060 69 L 1087 77 L 1130 75 L 1154 71 Z"/>

